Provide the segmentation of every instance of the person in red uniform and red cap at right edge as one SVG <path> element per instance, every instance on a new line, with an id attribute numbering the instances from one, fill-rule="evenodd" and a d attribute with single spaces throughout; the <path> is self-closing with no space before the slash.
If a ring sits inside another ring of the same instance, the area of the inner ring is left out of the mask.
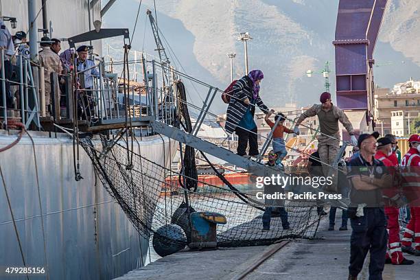
<path id="1" fill-rule="evenodd" d="M 406 193 L 411 191 L 411 194 L 417 195 L 420 192 L 420 136 L 411 135 L 408 145 L 410 150 L 401 159 L 401 165 L 404 167 L 401 172 L 403 178 L 401 185 Z M 401 243 L 404 253 L 420 256 L 420 199 L 416 197 L 414 199 L 410 201 L 411 219 L 404 231 Z M 413 239 L 414 244 L 412 244 Z"/>

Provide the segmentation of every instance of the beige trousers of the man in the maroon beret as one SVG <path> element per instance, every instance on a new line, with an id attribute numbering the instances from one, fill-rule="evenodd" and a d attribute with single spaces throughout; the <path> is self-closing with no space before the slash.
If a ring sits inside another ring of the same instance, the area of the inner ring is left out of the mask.
<path id="1" fill-rule="evenodd" d="M 337 170 L 332 168 L 331 165 L 334 163 L 340 150 L 340 133 L 337 132 L 335 135 L 330 136 L 318 136 L 318 153 L 321 164 L 323 165 L 324 176 L 333 177 L 334 183 L 327 190 L 337 192 Z"/>

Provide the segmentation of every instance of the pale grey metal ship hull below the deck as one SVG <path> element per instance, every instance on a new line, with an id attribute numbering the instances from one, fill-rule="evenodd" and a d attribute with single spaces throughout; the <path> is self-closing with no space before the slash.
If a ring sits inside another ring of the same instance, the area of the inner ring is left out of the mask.
<path id="1" fill-rule="evenodd" d="M 4 135 L 4 131 L 0 133 L 3 133 L 0 147 L 16 139 L 16 136 Z M 80 147 L 83 179 L 75 181 L 71 139 L 67 135 L 52 138 L 35 134 L 31 132 L 36 161 L 32 141 L 27 136 L 10 150 L 0 153 L 1 171 L 27 266 L 48 268 L 49 279 L 113 279 L 142 266 L 148 253 L 148 238 L 138 234 L 100 179 L 95 177 L 89 156 Z M 101 148 L 100 141 L 93 143 Z M 173 146 L 174 141 L 165 139 L 163 142 L 159 136 L 143 137 L 139 146 L 135 146 L 135 152 L 139 152 L 139 147 L 146 158 L 169 166 L 170 160 L 163 163 L 163 158 L 174 156 L 168 151 L 176 148 L 170 149 L 170 145 Z M 23 259 L 1 181 L 0 185 L 0 264 L 2 268 L 22 267 Z"/>

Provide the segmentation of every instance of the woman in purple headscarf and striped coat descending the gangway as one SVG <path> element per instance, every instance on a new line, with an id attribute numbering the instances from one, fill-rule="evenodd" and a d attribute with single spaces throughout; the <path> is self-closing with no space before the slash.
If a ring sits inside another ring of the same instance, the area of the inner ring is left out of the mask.
<path id="1" fill-rule="evenodd" d="M 237 154 L 256 156 L 258 152 L 257 125 L 254 121 L 255 106 L 264 113 L 268 108 L 259 97 L 259 83 L 264 78 L 261 70 L 253 70 L 237 80 L 232 89 L 232 97 L 226 113 L 226 132 L 236 132 L 238 137 Z M 249 152 L 246 148 L 249 143 Z"/>

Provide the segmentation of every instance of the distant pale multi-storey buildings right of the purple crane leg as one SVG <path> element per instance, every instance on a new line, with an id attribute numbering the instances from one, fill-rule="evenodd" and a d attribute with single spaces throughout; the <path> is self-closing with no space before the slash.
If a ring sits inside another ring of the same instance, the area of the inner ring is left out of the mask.
<path id="1" fill-rule="evenodd" d="M 374 98 L 376 129 L 382 135 L 407 135 L 410 119 L 417 117 L 420 110 L 420 81 L 410 78 L 393 89 L 375 89 Z"/>

